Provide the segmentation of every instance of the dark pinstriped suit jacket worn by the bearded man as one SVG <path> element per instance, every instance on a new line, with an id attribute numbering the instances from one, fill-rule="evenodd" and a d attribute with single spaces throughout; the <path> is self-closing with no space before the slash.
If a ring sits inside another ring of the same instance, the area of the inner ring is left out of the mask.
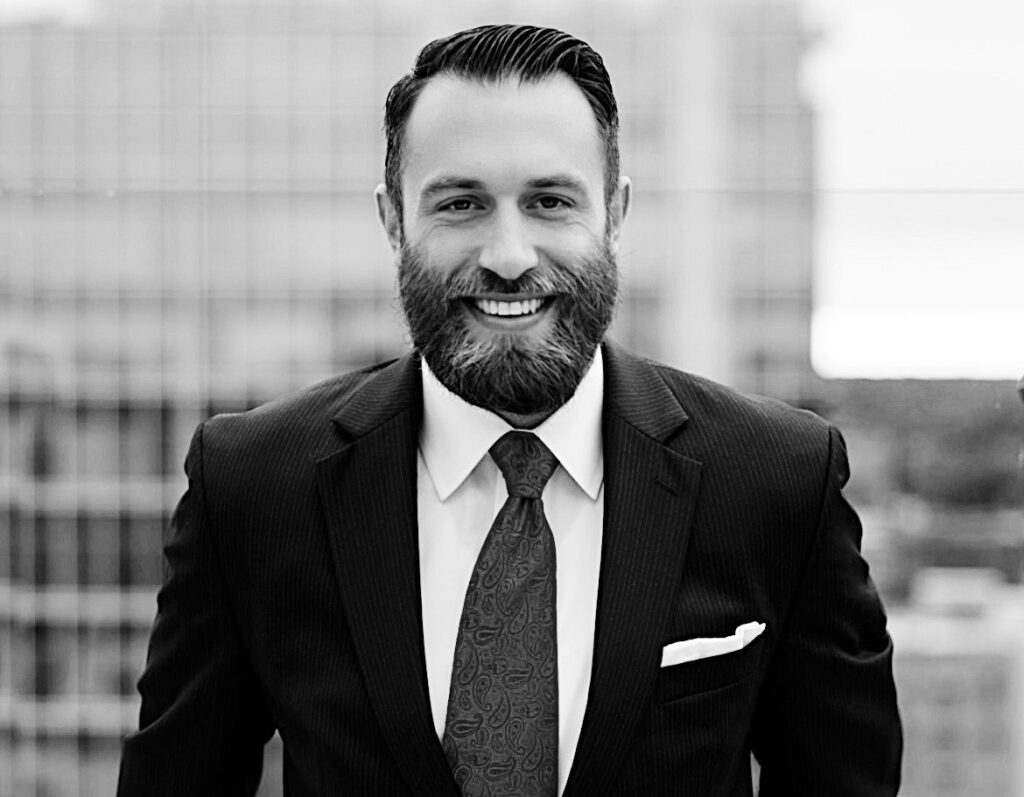
<path id="1" fill-rule="evenodd" d="M 565 794 L 891 795 L 885 615 L 816 416 L 605 346 L 590 696 Z M 419 361 L 197 431 L 119 794 L 456 795 L 434 732 L 417 554 Z M 564 567 L 564 565 L 563 565 Z M 767 630 L 660 668 L 662 647 Z"/>

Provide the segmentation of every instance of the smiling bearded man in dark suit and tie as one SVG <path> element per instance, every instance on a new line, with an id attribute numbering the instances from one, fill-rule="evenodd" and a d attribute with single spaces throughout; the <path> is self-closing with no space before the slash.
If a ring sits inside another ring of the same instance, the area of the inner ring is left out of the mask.
<path id="1" fill-rule="evenodd" d="M 385 126 L 415 351 L 197 431 L 120 793 L 894 794 L 839 433 L 602 343 L 600 56 L 458 33 Z"/>

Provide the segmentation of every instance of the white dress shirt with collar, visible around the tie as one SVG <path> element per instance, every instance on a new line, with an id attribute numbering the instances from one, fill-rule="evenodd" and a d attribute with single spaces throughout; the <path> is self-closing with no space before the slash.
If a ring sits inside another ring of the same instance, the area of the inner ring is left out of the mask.
<path id="1" fill-rule="evenodd" d="M 590 687 L 604 519 L 598 349 L 575 394 L 531 429 L 560 467 L 544 489 L 555 538 L 558 634 L 558 793 L 565 788 Z M 427 683 L 434 727 L 444 732 L 459 620 L 483 540 L 508 497 L 487 454 L 513 427 L 447 390 L 423 364 L 423 428 L 417 464 L 420 582 Z"/>

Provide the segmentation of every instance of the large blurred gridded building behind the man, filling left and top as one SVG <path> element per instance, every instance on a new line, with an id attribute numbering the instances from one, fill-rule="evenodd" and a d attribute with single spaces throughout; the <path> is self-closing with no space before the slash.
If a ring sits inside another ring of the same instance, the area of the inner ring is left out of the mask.
<path id="1" fill-rule="evenodd" d="M 371 199 L 383 98 L 428 38 L 509 16 L 76 7 L 0 15 L 0 795 L 17 797 L 112 792 L 195 425 L 403 348 Z M 813 404 L 796 0 L 516 13 L 591 41 L 620 96 L 635 206 L 614 336 Z"/>

